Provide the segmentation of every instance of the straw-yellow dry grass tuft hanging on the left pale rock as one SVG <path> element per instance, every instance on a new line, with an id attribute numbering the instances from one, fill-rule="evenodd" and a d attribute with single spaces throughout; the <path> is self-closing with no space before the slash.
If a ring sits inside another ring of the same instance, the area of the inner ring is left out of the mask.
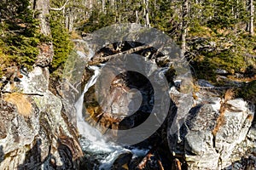
<path id="1" fill-rule="evenodd" d="M 28 99 L 26 99 L 26 97 L 23 94 L 7 94 L 5 95 L 4 100 L 13 105 L 16 105 L 20 115 L 30 116 L 32 111 L 32 104 L 29 102 Z"/>

